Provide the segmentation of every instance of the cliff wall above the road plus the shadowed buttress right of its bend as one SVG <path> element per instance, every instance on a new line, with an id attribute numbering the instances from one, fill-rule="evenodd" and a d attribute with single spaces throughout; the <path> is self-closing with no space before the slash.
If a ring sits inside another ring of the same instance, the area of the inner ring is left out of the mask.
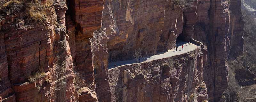
<path id="1" fill-rule="evenodd" d="M 209 100 L 218 101 L 228 86 L 228 58 L 243 52 L 240 0 L 190 4 L 182 9 L 172 1 L 106 0 L 102 26 L 108 28 L 109 61 L 129 59 L 136 49 L 154 55 L 172 48 L 177 37 L 194 38 L 207 46 L 204 81 Z"/>

